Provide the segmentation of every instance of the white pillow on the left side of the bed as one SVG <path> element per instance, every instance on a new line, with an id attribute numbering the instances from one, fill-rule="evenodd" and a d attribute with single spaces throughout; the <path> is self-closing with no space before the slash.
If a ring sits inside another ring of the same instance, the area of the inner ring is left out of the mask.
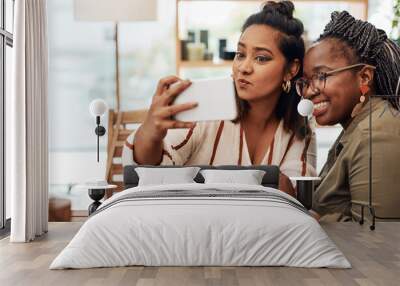
<path id="1" fill-rule="evenodd" d="M 135 168 L 139 186 L 195 183 L 199 167 L 185 168 Z"/>

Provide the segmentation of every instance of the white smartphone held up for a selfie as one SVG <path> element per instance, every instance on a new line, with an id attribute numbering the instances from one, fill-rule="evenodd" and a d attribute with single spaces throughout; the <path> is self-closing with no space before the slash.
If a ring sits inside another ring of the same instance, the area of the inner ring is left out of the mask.
<path id="1" fill-rule="evenodd" d="M 233 120 L 237 117 L 235 86 L 232 78 L 193 80 L 173 104 L 197 102 L 198 105 L 175 115 L 179 121 Z"/>

